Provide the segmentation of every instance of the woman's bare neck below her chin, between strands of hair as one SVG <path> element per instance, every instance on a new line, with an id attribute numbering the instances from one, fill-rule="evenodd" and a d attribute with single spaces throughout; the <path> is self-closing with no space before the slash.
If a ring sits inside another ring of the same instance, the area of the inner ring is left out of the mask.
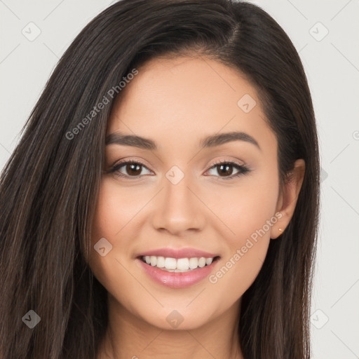
<path id="1" fill-rule="evenodd" d="M 163 330 L 134 316 L 108 296 L 109 325 L 97 359 L 243 359 L 239 303 L 201 327 Z"/>

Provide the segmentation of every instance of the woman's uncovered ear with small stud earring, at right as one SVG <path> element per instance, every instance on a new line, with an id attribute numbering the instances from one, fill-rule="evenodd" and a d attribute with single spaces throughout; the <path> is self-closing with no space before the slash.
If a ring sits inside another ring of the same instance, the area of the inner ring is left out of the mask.
<path id="1" fill-rule="evenodd" d="M 283 184 L 283 188 L 280 189 L 276 212 L 280 212 L 282 217 L 280 217 L 276 225 L 271 228 L 272 239 L 277 238 L 285 231 L 285 228 L 292 218 L 295 206 L 297 205 L 299 191 L 302 188 L 304 172 L 305 162 L 301 158 L 295 161 L 292 172 L 290 172 L 287 181 Z M 279 231 L 279 228 L 282 229 L 282 231 Z"/>

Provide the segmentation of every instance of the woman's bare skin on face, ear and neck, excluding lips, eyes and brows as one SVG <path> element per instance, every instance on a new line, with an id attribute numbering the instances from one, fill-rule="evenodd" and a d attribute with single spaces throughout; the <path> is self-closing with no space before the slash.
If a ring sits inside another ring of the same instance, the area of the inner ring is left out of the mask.
<path id="1" fill-rule="evenodd" d="M 290 222 L 304 161 L 295 163 L 292 182 L 280 192 L 276 136 L 255 88 L 238 70 L 204 57 L 156 58 L 138 70 L 115 102 L 107 135 L 146 137 L 158 150 L 105 149 L 106 170 L 127 159 L 144 166 L 140 177 L 126 165 L 120 171 L 128 179 L 102 177 L 91 244 L 107 238 L 112 250 L 104 257 L 93 250 L 90 257 L 108 291 L 109 328 L 98 358 L 241 359 L 241 297 L 257 277 L 269 241 Z M 237 104 L 245 94 L 257 102 L 248 113 Z M 260 149 L 238 140 L 201 148 L 203 137 L 233 130 L 254 137 Z M 240 161 L 250 172 L 226 179 L 238 170 L 221 172 L 213 167 L 219 160 Z M 173 165 L 184 173 L 178 184 L 165 177 Z M 165 287 L 135 261 L 146 250 L 192 247 L 218 253 L 218 271 L 276 213 L 280 219 L 217 283 L 205 278 L 187 288 Z M 174 310 L 183 318 L 177 328 L 166 321 Z"/>

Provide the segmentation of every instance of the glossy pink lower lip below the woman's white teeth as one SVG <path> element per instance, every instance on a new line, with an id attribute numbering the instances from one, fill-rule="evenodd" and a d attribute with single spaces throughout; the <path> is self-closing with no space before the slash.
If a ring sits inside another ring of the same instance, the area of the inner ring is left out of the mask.
<path id="1" fill-rule="evenodd" d="M 140 265 L 144 271 L 157 283 L 165 285 L 172 288 L 185 288 L 190 285 L 194 285 L 198 282 L 201 282 L 205 277 L 210 275 L 210 272 L 214 269 L 215 265 L 218 262 L 218 258 L 213 261 L 209 266 L 203 266 L 202 268 L 194 269 L 193 271 L 188 271 L 184 273 L 175 273 L 162 271 L 156 266 L 151 266 L 147 263 L 144 263 L 141 259 L 136 259 L 140 262 Z"/>

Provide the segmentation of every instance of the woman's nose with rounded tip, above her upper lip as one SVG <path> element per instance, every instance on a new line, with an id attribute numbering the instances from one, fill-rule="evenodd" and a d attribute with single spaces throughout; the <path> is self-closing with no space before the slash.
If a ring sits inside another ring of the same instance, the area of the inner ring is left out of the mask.
<path id="1" fill-rule="evenodd" d="M 205 208 L 198 199 L 193 182 L 189 182 L 187 177 L 185 175 L 177 184 L 164 178 L 164 188 L 156 200 L 152 216 L 156 230 L 181 236 L 188 230 L 203 229 Z"/>

